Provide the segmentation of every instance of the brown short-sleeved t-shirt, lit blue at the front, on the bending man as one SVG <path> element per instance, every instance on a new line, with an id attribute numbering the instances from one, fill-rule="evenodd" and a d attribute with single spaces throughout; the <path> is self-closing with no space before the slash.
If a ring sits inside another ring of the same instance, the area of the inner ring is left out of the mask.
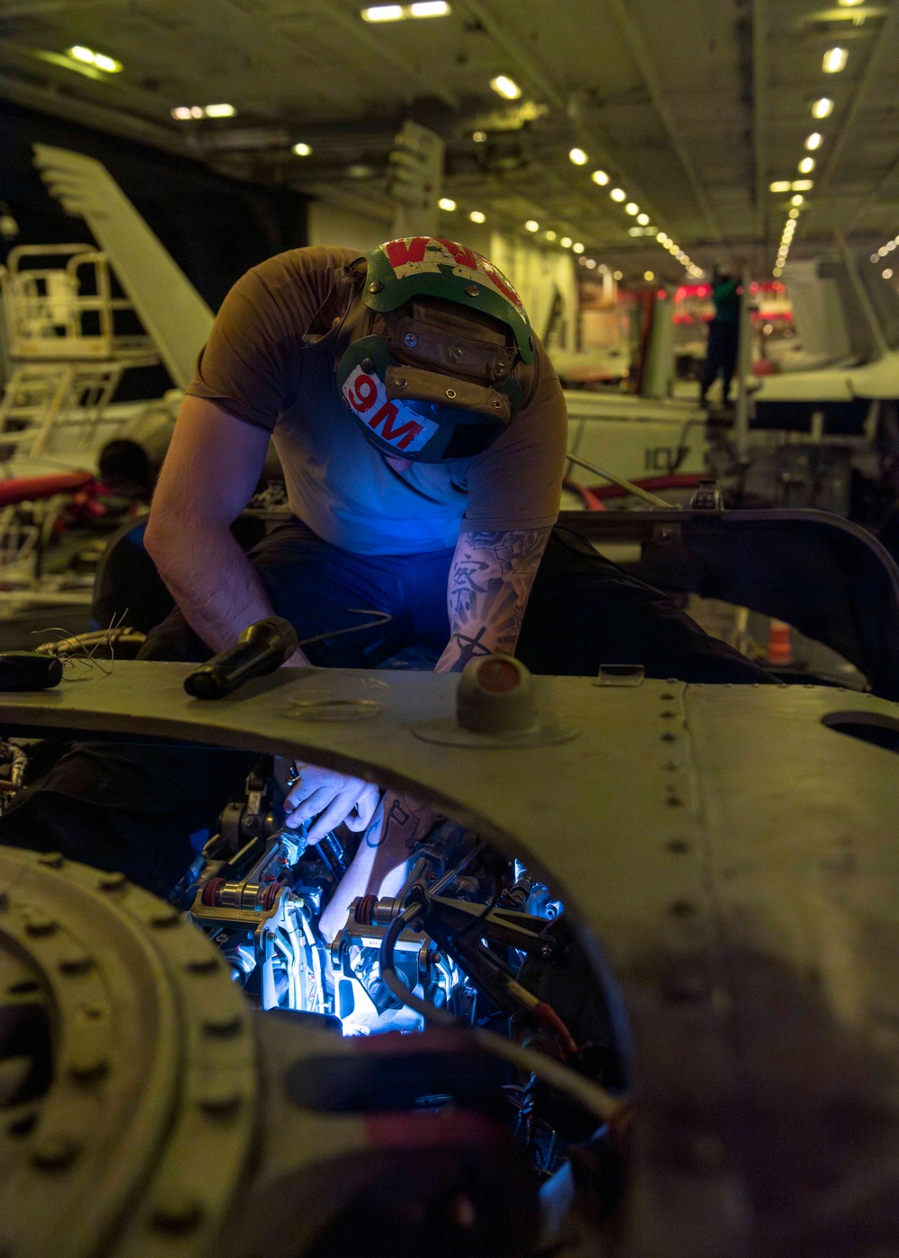
<path id="1" fill-rule="evenodd" d="M 253 267 L 219 311 L 194 398 L 272 433 L 292 512 L 320 537 L 361 555 L 426 552 L 470 531 L 555 522 L 565 455 L 562 386 L 538 345 L 533 396 L 476 458 L 413 463 L 397 473 L 365 440 L 337 391 L 334 348 L 316 314 L 351 249 L 291 249 Z"/>

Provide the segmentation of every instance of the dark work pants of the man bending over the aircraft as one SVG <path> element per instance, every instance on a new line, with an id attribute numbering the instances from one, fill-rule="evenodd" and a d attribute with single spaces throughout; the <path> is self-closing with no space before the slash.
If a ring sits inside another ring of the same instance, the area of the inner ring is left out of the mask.
<path id="1" fill-rule="evenodd" d="M 310 643 L 303 649 L 314 664 L 431 668 L 447 644 L 450 550 L 353 555 L 293 521 L 249 557 L 276 613 L 301 640 L 371 620 L 373 611 L 390 615 L 378 626 Z M 145 659 L 200 662 L 209 654 L 179 611 L 142 650 Z M 560 528 L 534 582 L 517 654 L 535 673 L 596 676 L 602 664 L 642 664 L 648 677 L 685 682 L 771 679 L 657 590 Z M 122 869 L 165 894 L 193 859 L 189 837 L 214 824 L 254 760 L 218 749 L 77 743 L 0 818 L 0 843 Z"/>

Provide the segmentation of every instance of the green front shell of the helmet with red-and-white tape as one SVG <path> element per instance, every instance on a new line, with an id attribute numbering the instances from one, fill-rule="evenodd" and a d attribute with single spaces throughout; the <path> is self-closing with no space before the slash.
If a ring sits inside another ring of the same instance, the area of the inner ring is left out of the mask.
<path id="1" fill-rule="evenodd" d="M 407 237 L 365 254 L 363 301 L 370 309 L 395 311 L 413 297 L 438 297 L 480 311 L 512 332 L 524 362 L 534 361 L 534 338 L 524 303 L 499 267 L 455 240 Z"/>

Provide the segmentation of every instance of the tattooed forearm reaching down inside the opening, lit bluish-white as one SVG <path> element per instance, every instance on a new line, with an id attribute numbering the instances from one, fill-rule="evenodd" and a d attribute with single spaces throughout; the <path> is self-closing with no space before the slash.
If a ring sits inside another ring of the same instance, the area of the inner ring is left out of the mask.
<path id="1" fill-rule="evenodd" d="M 395 896 L 405 882 L 409 853 L 439 819 L 427 804 L 387 791 L 346 871 L 321 915 L 319 930 L 330 944 L 346 925 L 358 896 Z"/>

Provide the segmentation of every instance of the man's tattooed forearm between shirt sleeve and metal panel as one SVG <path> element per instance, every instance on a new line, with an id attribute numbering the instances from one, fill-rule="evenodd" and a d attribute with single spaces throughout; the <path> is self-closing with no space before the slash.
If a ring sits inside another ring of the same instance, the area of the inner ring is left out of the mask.
<path id="1" fill-rule="evenodd" d="M 514 654 L 550 528 L 461 533 L 450 569 L 450 643 L 434 672 L 461 673 L 470 659 Z"/>

